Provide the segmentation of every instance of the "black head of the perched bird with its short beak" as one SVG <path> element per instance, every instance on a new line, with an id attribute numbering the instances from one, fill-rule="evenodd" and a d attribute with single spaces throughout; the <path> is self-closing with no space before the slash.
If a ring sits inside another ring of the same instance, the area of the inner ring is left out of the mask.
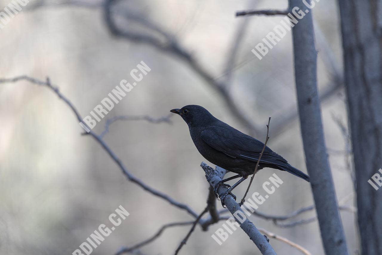
<path id="1" fill-rule="evenodd" d="M 208 125 L 217 120 L 200 105 L 186 105 L 180 109 L 172 109 L 171 112 L 179 114 L 190 127 Z"/>

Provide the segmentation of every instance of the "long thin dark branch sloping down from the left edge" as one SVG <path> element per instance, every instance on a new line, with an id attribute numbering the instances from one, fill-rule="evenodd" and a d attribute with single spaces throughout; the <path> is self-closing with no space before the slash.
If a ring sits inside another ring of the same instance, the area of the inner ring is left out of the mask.
<path id="1" fill-rule="evenodd" d="M 51 83 L 50 83 L 50 80 L 49 78 L 47 78 L 46 81 L 41 81 L 41 80 L 38 80 L 36 78 L 31 78 L 31 77 L 28 77 L 26 75 L 23 75 L 23 76 L 18 76 L 18 77 L 15 77 L 15 78 L 3 78 L 3 79 L 0 79 L 0 83 L 10 83 L 10 82 L 18 82 L 20 80 L 27 80 L 31 83 L 34 83 L 34 84 L 37 84 L 37 85 L 40 85 L 40 86 L 45 86 L 45 87 L 48 87 L 49 89 L 51 89 L 60 99 L 62 99 L 66 105 L 68 105 L 71 110 L 73 111 L 74 115 L 76 116 L 77 120 L 79 122 L 82 121 L 82 118 L 80 116 L 80 114 L 78 113 L 77 109 L 74 107 L 74 105 L 71 103 L 70 100 L 68 100 L 59 90 L 57 87 L 54 87 Z M 110 147 L 105 143 L 105 141 L 102 139 L 102 137 L 100 137 L 99 135 L 95 134 L 94 131 L 92 131 L 91 129 L 89 129 L 90 132 L 89 132 L 89 135 L 91 135 L 95 141 L 97 141 L 101 146 L 102 148 L 104 148 L 104 150 L 107 152 L 107 154 L 112 158 L 112 160 L 118 165 L 118 167 L 121 169 L 122 173 L 126 176 L 126 178 L 128 178 L 129 181 L 132 181 L 133 183 L 137 184 L 138 186 L 140 186 L 141 188 L 143 188 L 144 190 L 148 191 L 149 193 L 151 193 L 152 195 L 154 196 L 158 196 L 159 198 L 162 198 L 164 200 L 166 200 L 168 203 L 172 204 L 173 206 L 177 207 L 177 208 L 180 208 L 180 209 L 183 209 L 185 211 L 187 211 L 191 216 L 193 217 L 197 217 L 197 213 L 195 211 L 193 211 L 193 209 L 189 208 L 188 205 L 186 204 L 183 204 L 183 203 L 180 203 L 178 201 L 175 201 L 173 198 L 171 198 L 170 196 L 160 192 L 160 191 L 157 191 L 155 190 L 154 188 L 151 188 L 149 185 L 147 185 L 146 183 L 144 183 L 143 181 L 139 180 L 139 178 L 135 177 L 133 174 L 131 174 L 127 168 L 125 167 L 125 165 L 122 163 L 122 161 L 117 157 L 117 155 L 112 151 L 112 149 L 110 149 Z"/>

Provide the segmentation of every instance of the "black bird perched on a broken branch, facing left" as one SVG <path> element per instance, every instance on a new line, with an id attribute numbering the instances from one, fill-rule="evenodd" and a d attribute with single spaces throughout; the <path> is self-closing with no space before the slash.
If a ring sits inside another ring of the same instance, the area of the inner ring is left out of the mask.
<path id="1" fill-rule="evenodd" d="M 204 158 L 225 170 L 237 173 L 233 177 L 222 180 L 220 185 L 230 187 L 224 182 L 241 177 L 221 197 L 222 203 L 228 193 L 236 199 L 231 191 L 254 173 L 264 144 L 215 118 L 202 106 L 186 105 L 181 109 L 173 109 L 171 112 L 179 114 L 186 121 L 196 149 Z M 258 170 L 264 167 L 286 171 L 309 181 L 308 175 L 292 167 L 268 146 L 265 147 L 261 156 Z"/>

